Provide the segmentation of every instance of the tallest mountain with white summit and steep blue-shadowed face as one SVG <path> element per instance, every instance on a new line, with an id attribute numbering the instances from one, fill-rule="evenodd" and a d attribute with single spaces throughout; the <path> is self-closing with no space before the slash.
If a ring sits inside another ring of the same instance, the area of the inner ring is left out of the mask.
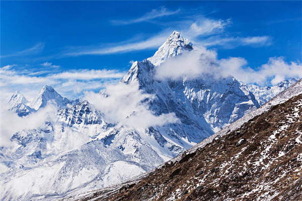
<path id="1" fill-rule="evenodd" d="M 200 59 L 208 65 L 214 65 L 202 50 L 193 47 L 179 32 L 173 32 L 153 57 L 134 62 L 122 82 L 138 83 L 147 93 L 155 94 L 150 109 L 156 114 L 175 112 L 182 125 L 195 125 L 199 131 L 195 138 L 192 138 L 192 133 L 196 133 L 192 126 L 190 130 L 193 132 L 180 129 L 177 132 L 185 133 L 184 137 L 195 143 L 259 108 L 248 86 L 235 77 L 214 79 L 212 76 L 201 76 L 195 79 L 184 77 L 181 80 L 156 78 L 156 70 L 161 67 L 159 64 L 185 51 L 199 52 Z"/>

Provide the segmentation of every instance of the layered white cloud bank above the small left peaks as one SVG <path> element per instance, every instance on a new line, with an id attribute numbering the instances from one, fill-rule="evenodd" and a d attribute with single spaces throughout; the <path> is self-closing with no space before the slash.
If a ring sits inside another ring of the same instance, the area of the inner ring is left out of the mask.
<path id="1" fill-rule="evenodd" d="M 79 69 L 64 72 L 37 71 L 30 72 L 14 69 L 16 65 L 0 68 L 2 98 L 7 98 L 15 90 L 22 91 L 32 99 L 45 85 L 52 85 L 62 95 L 69 98 L 81 95 L 85 90 L 100 90 L 105 83 L 115 83 L 125 74 L 118 70 Z"/>

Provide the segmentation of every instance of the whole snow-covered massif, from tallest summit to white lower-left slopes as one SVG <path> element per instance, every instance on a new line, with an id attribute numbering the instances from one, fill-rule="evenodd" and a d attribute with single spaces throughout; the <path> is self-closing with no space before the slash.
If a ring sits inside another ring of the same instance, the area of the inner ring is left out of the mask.
<path id="1" fill-rule="evenodd" d="M 187 51 L 208 59 L 173 32 L 153 57 L 134 62 L 121 79 L 152 95 L 144 100 L 152 114 L 173 113 L 179 120 L 163 126 L 110 123 L 104 111 L 86 100 L 71 101 L 44 86 L 31 108 L 39 110 L 52 101 L 59 110 L 39 127 L 15 133 L 15 146 L 0 148 L 1 199 L 55 199 L 113 185 L 162 164 L 260 107 L 247 84 L 235 77 L 157 79 L 162 63 Z"/>

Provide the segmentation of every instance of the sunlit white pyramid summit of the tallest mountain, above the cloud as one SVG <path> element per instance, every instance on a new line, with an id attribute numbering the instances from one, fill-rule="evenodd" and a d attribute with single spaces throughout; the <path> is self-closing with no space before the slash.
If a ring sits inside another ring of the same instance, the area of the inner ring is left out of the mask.
<path id="1" fill-rule="evenodd" d="M 193 50 L 193 44 L 188 39 L 182 37 L 180 32 L 173 31 L 166 42 L 158 49 L 158 51 L 148 60 L 155 66 L 159 66 L 169 58 L 177 57 L 184 51 Z"/>

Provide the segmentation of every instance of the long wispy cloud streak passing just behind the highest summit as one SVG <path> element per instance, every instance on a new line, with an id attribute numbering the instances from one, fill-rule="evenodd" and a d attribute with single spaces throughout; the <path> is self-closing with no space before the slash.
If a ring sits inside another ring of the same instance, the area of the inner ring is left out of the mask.
<path id="1" fill-rule="evenodd" d="M 268 46 L 272 42 L 269 36 L 225 37 L 226 27 L 232 25 L 231 19 L 214 20 L 205 17 L 195 17 L 193 20 L 174 22 L 173 25 L 174 27 L 167 28 L 153 37 L 144 39 L 137 37 L 120 43 L 102 44 L 100 47 L 69 48 L 61 55 L 65 57 L 106 55 L 157 49 L 174 30 L 180 31 L 184 37 L 193 41 L 193 44 L 196 46 L 221 46 L 231 49 L 238 46 Z M 175 27 L 175 25 L 177 26 Z M 172 25 L 170 24 L 170 26 Z"/>

